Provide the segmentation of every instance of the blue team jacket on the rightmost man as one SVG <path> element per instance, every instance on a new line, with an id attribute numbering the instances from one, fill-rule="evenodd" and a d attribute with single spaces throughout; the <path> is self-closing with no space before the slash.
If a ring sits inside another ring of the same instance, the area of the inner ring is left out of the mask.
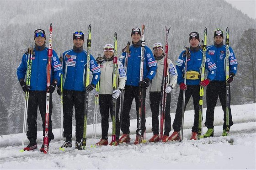
<path id="1" fill-rule="evenodd" d="M 207 48 L 206 52 L 211 56 L 217 66 L 217 73 L 213 80 L 225 81 L 226 46 L 223 45 L 221 47 L 216 47 L 215 45 L 212 45 Z M 236 74 L 237 61 L 235 58 L 235 53 L 231 47 L 229 47 L 229 52 L 229 72 Z"/>

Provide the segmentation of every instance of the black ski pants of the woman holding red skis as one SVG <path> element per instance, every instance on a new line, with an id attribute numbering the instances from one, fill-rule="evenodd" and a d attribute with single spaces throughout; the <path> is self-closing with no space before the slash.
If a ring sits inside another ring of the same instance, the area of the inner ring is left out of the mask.
<path id="1" fill-rule="evenodd" d="M 159 106 L 162 104 L 161 92 L 152 91 L 149 92 L 150 108 L 152 112 L 152 131 L 155 134 L 159 134 Z M 171 115 L 170 115 L 170 105 L 171 105 L 171 93 L 166 94 L 165 103 L 165 133 L 164 135 L 169 136 L 171 131 Z M 161 111 L 160 111 L 161 112 Z"/>

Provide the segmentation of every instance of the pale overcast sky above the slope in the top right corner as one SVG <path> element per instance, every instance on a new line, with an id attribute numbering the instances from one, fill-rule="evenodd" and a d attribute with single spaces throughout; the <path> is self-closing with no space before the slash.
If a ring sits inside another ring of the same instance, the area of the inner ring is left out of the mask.
<path id="1" fill-rule="evenodd" d="M 226 0 L 238 10 L 256 19 L 256 0 Z"/>

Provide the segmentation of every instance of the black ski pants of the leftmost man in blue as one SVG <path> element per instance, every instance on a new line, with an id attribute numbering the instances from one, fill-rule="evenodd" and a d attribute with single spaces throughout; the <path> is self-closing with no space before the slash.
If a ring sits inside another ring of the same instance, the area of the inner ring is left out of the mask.
<path id="1" fill-rule="evenodd" d="M 37 139 L 37 106 L 42 117 L 43 136 L 45 131 L 45 111 L 46 111 L 46 91 L 29 91 L 28 107 L 27 107 L 27 138 Z M 52 128 L 52 112 L 53 101 L 52 94 L 50 94 L 49 101 L 49 125 L 48 125 L 48 137 L 54 139 Z"/>

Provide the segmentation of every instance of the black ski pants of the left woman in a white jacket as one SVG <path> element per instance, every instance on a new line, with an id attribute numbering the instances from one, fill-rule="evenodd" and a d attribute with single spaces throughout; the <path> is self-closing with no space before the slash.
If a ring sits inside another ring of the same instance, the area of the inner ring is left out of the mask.
<path id="1" fill-rule="evenodd" d="M 101 138 L 107 140 L 107 132 L 109 128 L 108 117 L 109 112 L 111 119 L 113 118 L 113 101 L 112 95 L 99 95 L 99 104 L 100 104 L 100 112 L 101 112 Z M 119 139 L 120 136 L 120 122 L 118 117 L 120 106 L 120 97 L 117 98 L 117 107 L 116 107 L 116 139 Z M 112 119 L 113 121 L 113 119 Z"/>

